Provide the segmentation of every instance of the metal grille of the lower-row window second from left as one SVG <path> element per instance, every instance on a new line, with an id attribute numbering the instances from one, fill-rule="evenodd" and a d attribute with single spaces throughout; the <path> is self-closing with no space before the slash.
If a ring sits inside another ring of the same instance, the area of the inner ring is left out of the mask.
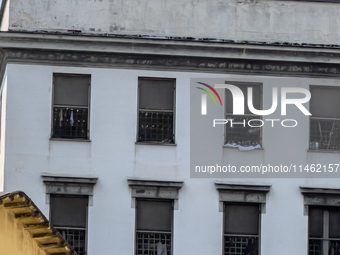
<path id="1" fill-rule="evenodd" d="M 157 255 L 157 244 L 166 244 L 167 254 L 171 255 L 170 232 L 138 231 L 136 233 L 136 254 Z"/>

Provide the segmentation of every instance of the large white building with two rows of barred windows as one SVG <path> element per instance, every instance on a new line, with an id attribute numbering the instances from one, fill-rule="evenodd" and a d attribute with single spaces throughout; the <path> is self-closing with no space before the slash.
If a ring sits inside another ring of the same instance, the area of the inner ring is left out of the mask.
<path id="1" fill-rule="evenodd" d="M 340 254 L 339 11 L 336 1 L 3 0 L 0 190 L 23 190 L 78 254 Z M 191 82 L 209 79 L 252 87 L 261 109 L 274 87 L 306 89 L 312 116 L 278 107 L 270 119 L 297 126 L 266 122 L 254 135 L 193 127 Z M 204 134 L 194 147 L 193 129 Z M 200 146 L 220 165 L 298 175 L 194 176 Z"/>

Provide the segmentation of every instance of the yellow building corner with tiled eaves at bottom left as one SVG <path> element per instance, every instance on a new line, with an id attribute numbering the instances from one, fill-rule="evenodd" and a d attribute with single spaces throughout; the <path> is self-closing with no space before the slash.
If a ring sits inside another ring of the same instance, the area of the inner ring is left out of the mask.
<path id="1" fill-rule="evenodd" d="M 22 191 L 0 193 L 0 255 L 76 255 Z"/>

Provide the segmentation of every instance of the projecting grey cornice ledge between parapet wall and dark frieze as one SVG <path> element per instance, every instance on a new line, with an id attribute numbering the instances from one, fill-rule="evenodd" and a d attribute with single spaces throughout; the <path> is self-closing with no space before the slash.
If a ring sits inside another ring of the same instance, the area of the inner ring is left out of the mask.
<path id="1" fill-rule="evenodd" d="M 0 48 L 340 64 L 339 45 L 307 47 L 295 44 L 287 46 L 227 41 L 1 32 Z"/>

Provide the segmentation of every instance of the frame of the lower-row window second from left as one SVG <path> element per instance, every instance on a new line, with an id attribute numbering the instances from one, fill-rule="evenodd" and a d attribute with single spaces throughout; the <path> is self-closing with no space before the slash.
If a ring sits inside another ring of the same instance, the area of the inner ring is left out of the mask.
<path id="1" fill-rule="evenodd" d="M 174 199 L 160 199 L 160 198 L 143 198 L 143 197 L 139 197 L 136 198 L 135 201 L 135 229 L 134 229 L 134 254 L 137 254 L 137 222 L 138 222 L 138 201 L 152 201 L 152 202 L 171 202 L 172 205 L 172 212 L 171 212 L 171 246 L 170 246 L 170 254 L 168 255 L 172 255 L 173 254 L 173 246 L 174 246 L 174 210 L 175 210 L 175 201 Z M 146 231 L 148 232 L 148 231 Z M 150 231 L 151 232 L 151 231 Z M 156 231 L 155 231 L 156 232 Z"/>

